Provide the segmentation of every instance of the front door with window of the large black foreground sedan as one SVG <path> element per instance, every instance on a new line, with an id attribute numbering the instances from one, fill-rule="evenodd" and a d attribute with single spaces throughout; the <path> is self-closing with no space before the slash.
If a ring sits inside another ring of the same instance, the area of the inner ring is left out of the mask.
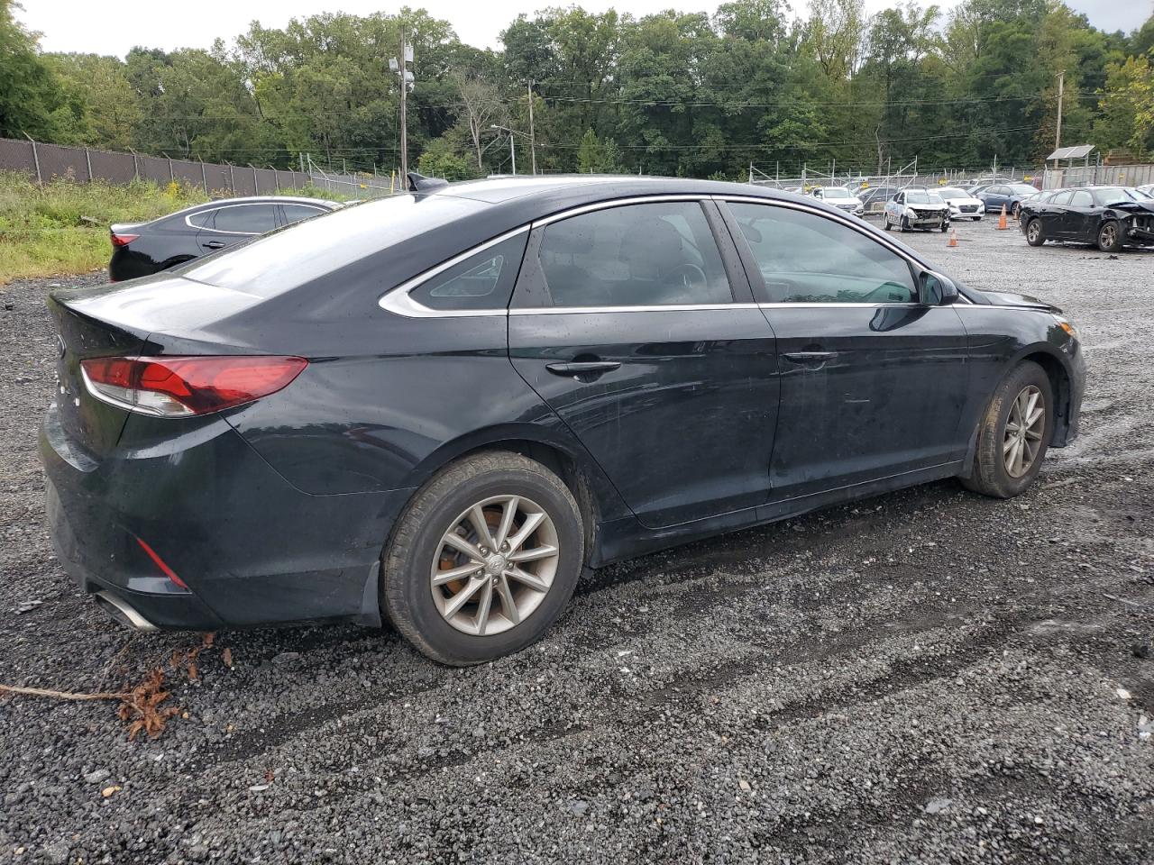
<path id="1" fill-rule="evenodd" d="M 966 331 L 897 247 L 780 203 L 730 201 L 728 218 L 778 340 L 772 501 L 962 459 Z"/>

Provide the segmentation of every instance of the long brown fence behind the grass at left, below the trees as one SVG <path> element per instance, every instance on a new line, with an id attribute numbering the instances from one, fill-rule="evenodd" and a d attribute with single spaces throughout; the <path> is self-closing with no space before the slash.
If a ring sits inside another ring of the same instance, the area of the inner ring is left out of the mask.
<path id="1" fill-rule="evenodd" d="M 219 165 L 0 138 L 0 171 L 23 172 L 35 176 L 38 182 L 53 178 L 70 178 L 85 183 L 91 180 L 128 183 L 135 179 L 162 185 L 177 181 L 202 187 L 207 195 L 213 196 L 270 195 L 277 189 L 301 189 L 306 186 L 320 187 L 352 198 L 373 198 L 394 191 L 392 182 L 387 178 L 325 173 L 312 159 L 308 168 L 307 172 L 301 172 L 257 168 L 253 165 Z"/>

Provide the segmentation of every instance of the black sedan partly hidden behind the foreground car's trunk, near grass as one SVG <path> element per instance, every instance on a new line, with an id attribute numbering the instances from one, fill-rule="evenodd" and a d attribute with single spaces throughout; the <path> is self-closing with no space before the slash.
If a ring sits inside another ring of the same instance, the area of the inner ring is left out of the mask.
<path id="1" fill-rule="evenodd" d="M 323 198 L 270 195 L 196 204 L 149 223 L 117 223 L 110 230 L 108 276 L 119 281 L 158 273 L 339 206 Z"/>

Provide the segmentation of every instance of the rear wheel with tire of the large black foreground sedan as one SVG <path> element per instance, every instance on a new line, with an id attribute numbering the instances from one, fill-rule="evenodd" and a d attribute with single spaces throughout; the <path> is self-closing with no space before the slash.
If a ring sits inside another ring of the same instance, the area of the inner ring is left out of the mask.
<path id="1" fill-rule="evenodd" d="M 526 536 L 525 544 L 514 549 L 555 549 L 554 556 L 524 562 L 518 569 L 523 573 L 531 571 L 529 576 L 547 585 L 547 589 L 541 592 L 519 578 L 505 577 L 509 571 L 503 556 L 492 555 L 499 554 L 497 549 L 481 557 L 490 564 L 500 559 L 494 567 L 486 565 L 473 576 L 434 586 L 435 571 L 480 569 L 469 555 L 445 543 L 445 537 L 454 533 L 474 550 L 481 547 L 475 528 L 471 529 L 473 534 L 462 534 L 477 525 L 470 518 L 473 506 L 482 505 L 492 541 L 501 532 L 509 502 L 516 503 L 516 516 L 507 532 L 510 539 L 518 535 L 533 514 L 545 514 L 539 528 Z M 467 667 L 518 652 L 541 638 L 572 596 L 585 561 L 584 539 L 583 518 L 572 492 L 548 468 L 508 451 L 465 457 L 426 483 L 398 520 L 382 556 L 382 611 L 418 650 L 443 664 Z M 458 593 L 467 592 L 474 581 L 475 588 L 466 595 L 469 600 L 455 612 L 451 601 Z M 508 595 L 503 594 L 505 591 Z M 518 609 L 517 623 L 507 615 L 507 596 Z M 481 625 L 486 597 L 485 611 L 489 615 Z M 479 626 L 487 632 L 479 633 Z"/>

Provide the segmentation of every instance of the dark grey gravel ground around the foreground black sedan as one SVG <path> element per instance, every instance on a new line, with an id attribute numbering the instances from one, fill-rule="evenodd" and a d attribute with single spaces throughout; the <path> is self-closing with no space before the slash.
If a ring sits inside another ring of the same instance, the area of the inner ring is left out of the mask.
<path id="1" fill-rule="evenodd" d="M 1026 496 L 938 483 L 615 566 L 474 669 L 220 633 L 156 740 L 0 697 L 0 862 L 1154 862 L 1154 254 L 958 233 L 906 238 L 1087 343 L 1082 436 Z M 114 690 L 200 637 L 129 635 L 52 556 L 53 281 L 0 289 L 0 683 Z"/>

